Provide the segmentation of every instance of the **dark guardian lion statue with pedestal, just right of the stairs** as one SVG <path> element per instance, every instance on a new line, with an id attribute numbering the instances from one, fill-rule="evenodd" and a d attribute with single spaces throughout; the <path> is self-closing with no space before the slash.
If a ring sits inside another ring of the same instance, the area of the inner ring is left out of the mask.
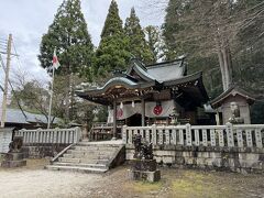
<path id="1" fill-rule="evenodd" d="M 134 160 L 130 178 L 133 180 L 157 182 L 161 179 L 161 170 L 157 169 L 156 160 L 153 160 L 152 143 L 145 142 L 141 134 L 133 136 L 135 147 Z"/>

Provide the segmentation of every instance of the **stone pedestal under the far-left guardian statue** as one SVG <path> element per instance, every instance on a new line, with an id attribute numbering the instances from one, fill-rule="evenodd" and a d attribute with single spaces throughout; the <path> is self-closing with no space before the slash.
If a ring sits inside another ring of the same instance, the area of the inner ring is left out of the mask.
<path id="1" fill-rule="evenodd" d="M 8 168 L 21 167 L 25 165 L 26 161 L 24 160 L 23 153 L 8 153 L 1 164 L 2 167 Z"/>

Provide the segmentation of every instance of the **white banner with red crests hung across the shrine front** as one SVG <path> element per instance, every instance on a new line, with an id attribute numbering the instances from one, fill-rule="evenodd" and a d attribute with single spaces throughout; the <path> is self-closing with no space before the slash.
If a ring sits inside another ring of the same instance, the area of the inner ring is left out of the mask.
<path id="1" fill-rule="evenodd" d="M 145 102 L 145 116 L 148 118 L 166 118 L 173 113 L 174 108 L 175 106 L 173 100 L 162 101 L 160 106 L 157 106 L 156 102 Z M 120 106 L 117 107 L 117 120 L 124 120 L 135 113 L 142 114 L 141 103 L 134 103 L 134 107 L 132 107 L 132 102 L 127 103 L 123 105 L 122 109 Z M 113 110 L 110 109 L 108 111 L 108 123 L 112 122 Z"/>

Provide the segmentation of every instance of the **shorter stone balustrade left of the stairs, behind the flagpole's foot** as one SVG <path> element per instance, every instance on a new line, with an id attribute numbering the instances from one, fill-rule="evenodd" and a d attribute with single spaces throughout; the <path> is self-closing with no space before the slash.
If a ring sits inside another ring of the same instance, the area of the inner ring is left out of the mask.
<path id="1" fill-rule="evenodd" d="M 23 144 L 73 144 L 81 138 L 80 128 L 20 130 L 16 136 L 23 136 Z"/>

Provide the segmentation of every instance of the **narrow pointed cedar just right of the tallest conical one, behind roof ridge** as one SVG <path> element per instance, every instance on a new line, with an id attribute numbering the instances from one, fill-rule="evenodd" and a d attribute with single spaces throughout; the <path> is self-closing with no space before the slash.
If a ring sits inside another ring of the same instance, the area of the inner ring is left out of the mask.
<path id="1" fill-rule="evenodd" d="M 134 8 L 131 9 L 130 16 L 124 24 L 124 33 L 129 40 L 130 54 L 145 64 L 155 63 L 153 53 L 146 43 L 144 31 L 141 28 L 140 19 L 135 14 Z"/>

